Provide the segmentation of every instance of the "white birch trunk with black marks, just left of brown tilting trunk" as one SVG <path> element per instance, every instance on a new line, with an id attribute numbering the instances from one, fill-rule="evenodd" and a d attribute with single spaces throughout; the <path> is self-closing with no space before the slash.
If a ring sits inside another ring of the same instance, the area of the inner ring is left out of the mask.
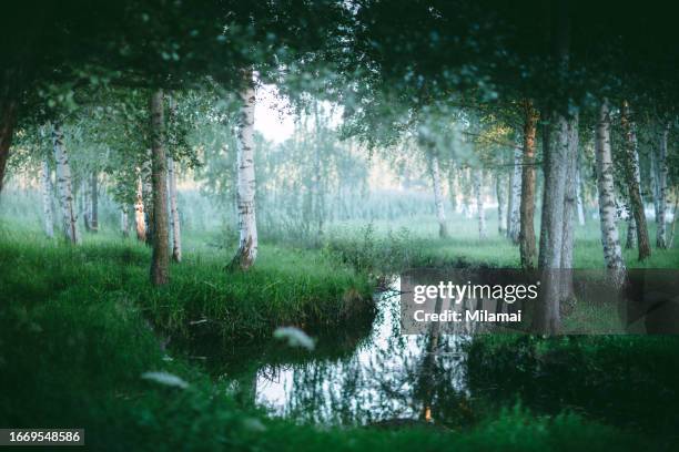
<path id="1" fill-rule="evenodd" d="M 625 270 L 618 227 L 616 225 L 616 198 L 614 186 L 614 164 L 610 151 L 610 112 L 608 102 L 601 102 L 596 125 L 595 156 L 597 166 L 597 191 L 599 195 L 599 222 L 601 225 L 601 244 L 604 245 L 604 260 L 609 270 L 614 270 L 615 280 Z"/>

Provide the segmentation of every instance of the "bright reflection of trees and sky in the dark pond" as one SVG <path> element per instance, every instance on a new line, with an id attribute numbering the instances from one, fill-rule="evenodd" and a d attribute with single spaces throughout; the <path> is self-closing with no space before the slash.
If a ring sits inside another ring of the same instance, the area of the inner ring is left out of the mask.
<path id="1" fill-rule="evenodd" d="M 341 359 L 266 364 L 253 381 L 255 402 L 272 414 L 316 423 L 368 424 L 468 419 L 467 336 L 399 333 L 399 288 L 379 295 L 364 345 Z"/>

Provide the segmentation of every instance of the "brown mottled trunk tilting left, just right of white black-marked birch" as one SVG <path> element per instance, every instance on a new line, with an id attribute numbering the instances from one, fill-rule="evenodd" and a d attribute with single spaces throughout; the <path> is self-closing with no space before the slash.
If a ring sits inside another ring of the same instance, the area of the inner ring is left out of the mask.
<path id="1" fill-rule="evenodd" d="M 641 192 L 639 187 L 639 153 L 637 151 L 637 135 L 635 132 L 635 125 L 630 117 L 629 103 L 625 101 L 622 103 L 622 115 L 620 117 L 622 129 L 625 130 L 625 141 L 627 158 L 625 168 L 627 171 L 627 183 L 629 188 L 629 201 L 631 210 L 635 216 L 635 223 L 637 224 L 637 244 L 639 245 L 639 260 L 643 260 L 650 257 L 650 244 L 648 239 L 648 228 L 646 226 L 646 213 L 643 212 L 643 201 L 641 199 Z"/>

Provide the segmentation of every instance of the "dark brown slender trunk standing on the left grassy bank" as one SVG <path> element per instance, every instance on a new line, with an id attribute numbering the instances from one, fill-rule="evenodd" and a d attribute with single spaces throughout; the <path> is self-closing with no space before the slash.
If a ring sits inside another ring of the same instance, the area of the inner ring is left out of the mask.
<path id="1" fill-rule="evenodd" d="M 163 90 L 151 96 L 151 179 L 153 184 L 153 257 L 151 282 L 161 286 L 168 282 L 170 257 L 168 253 L 168 157 L 163 119 Z"/>

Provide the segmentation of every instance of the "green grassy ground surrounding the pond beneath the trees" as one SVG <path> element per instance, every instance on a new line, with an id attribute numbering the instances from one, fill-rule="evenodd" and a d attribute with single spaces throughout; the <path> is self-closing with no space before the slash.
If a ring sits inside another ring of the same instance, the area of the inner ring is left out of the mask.
<path id="1" fill-rule="evenodd" d="M 90 448 L 121 451 L 619 451 L 677 445 L 676 433 L 668 430 L 677 420 L 669 409 L 679 393 L 675 338 L 488 338 L 474 346 L 470 372 L 477 376 L 475 384 L 503 403 L 468 428 L 397 431 L 270 419 L 239 403 L 230 381 L 215 381 L 200 362 L 171 352 L 172 343 L 165 347 L 165 335 L 205 333 L 223 343 L 245 342 L 268 340 L 278 325 L 334 329 L 357 316 L 369 318 L 369 274 L 418 263 L 517 263 L 516 248 L 503 238 L 480 246 L 472 238 L 442 243 L 417 230 L 373 229 L 354 236 L 330 233 L 333 240 L 321 249 L 265 244 L 253 271 L 229 275 L 224 266 L 231 249 L 221 247 L 215 234 L 189 234 L 184 261 L 172 266 L 170 285 L 153 289 L 148 284 L 150 250 L 133 239 L 89 235 L 82 246 L 71 248 L 3 220 L 0 424 L 78 425 L 87 430 Z M 495 230 L 489 226 L 489 234 Z M 596 232 L 580 233 L 585 240 L 578 243 L 578 264 L 598 266 L 600 245 L 587 242 L 596 240 L 587 238 Z M 677 268 L 677 248 L 656 253 L 645 265 Z M 181 380 L 141 377 L 149 371 Z M 551 391 L 535 390 L 543 384 Z M 604 392 L 591 397 L 599 389 Z M 525 408 L 523 401 L 535 398 L 544 399 L 544 407 Z M 620 398 L 632 401 L 619 405 Z M 579 409 L 587 403 L 617 414 L 592 417 Z M 630 419 L 635 411 L 637 419 Z"/>

